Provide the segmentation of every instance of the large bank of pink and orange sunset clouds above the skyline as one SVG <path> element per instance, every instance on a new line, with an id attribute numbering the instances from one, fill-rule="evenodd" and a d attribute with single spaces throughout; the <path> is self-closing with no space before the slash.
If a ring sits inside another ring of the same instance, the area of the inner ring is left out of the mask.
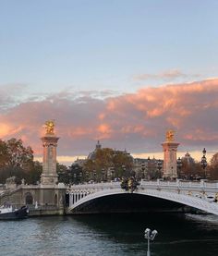
<path id="1" fill-rule="evenodd" d="M 104 95 L 104 97 L 99 97 Z M 141 88 L 135 93 L 61 91 L 8 104 L 0 114 L 0 137 L 21 138 L 42 155 L 42 125 L 55 119 L 58 154 L 87 155 L 96 140 L 129 152 L 161 152 L 165 130 L 174 128 L 181 151 L 218 151 L 218 79 Z"/>

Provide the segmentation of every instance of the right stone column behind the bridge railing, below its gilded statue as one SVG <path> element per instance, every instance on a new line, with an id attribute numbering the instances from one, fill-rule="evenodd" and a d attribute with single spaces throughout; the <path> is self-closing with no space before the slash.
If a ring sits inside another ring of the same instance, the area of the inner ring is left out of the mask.
<path id="1" fill-rule="evenodd" d="M 166 141 L 163 142 L 163 177 L 177 177 L 177 158 L 176 152 L 179 143 Z"/>

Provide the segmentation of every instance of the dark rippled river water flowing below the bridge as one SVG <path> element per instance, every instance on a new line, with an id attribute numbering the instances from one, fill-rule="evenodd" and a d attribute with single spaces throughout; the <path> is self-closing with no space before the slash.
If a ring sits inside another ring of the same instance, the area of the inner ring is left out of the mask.
<path id="1" fill-rule="evenodd" d="M 218 255 L 218 216 L 100 214 L 0 221 L 0 255 L 144 256 L 144 229 L 157 229 L 151 256 Z"/>

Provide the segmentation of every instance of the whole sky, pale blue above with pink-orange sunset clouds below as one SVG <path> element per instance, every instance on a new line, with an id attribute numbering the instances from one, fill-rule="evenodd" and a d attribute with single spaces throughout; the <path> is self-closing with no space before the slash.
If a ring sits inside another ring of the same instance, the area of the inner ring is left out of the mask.
<path id="1" fill-rule="evenodd" d="M 218 152 L 218 2 L 0 0 L 0 139 L 42 157 L 55 119 L 58 161 L 103 147 L 163 158 Z"/>

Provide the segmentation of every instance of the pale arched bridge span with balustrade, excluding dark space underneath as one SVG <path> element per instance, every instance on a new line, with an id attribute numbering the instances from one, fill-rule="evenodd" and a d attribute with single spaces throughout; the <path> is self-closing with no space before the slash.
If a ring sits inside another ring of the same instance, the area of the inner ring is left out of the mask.
<path id="1" fill-rule="evenodd" d="M 67 189 L 68 213 L 83 204 L 107 196 L 131 193 L 121 189 L 120 182 L 74 185 Z M 218 183 L 185 181 L 140 181 L 133 194 L 174 201 L 207 213 L 218 215 Z"/>

